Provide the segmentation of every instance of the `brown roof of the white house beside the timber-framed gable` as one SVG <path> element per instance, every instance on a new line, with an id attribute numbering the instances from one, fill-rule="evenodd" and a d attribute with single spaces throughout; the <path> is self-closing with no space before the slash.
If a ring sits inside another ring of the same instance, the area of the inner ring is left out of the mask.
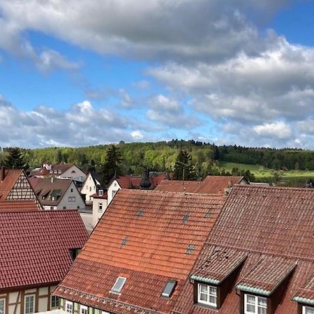
<path id="1" fill-rule="evenodd" d="M 72 180 L 70 179 L 31 178 L 29 181 L 40 203 L 47 206 L 56 206 L 59 204 L 72 184 Z M 53 197 L 54 200 L 52 200 Z"/>

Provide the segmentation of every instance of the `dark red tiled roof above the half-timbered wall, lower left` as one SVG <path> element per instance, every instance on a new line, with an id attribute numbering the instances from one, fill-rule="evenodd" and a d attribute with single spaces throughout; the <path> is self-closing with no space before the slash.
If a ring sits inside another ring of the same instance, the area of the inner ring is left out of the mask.
<path id="1" fill-rule="evenodd" d="M 1 213 L 0 224 L 0 290 L 58 283 L 88 237 L 76 210 Z"/>

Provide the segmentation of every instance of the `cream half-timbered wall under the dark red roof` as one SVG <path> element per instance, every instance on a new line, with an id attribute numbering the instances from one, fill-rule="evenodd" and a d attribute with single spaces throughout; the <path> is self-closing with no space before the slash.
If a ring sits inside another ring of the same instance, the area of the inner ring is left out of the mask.
<path id="1" fill-rule="evenodd" d="M 1 292 L 0 299 L 6 299 L 5 314 L 24 314 L 25 297 L 33 295 L 34 311 L 43 312 L 50 311 L 51 308 L 51 293 L 55 289 L 55 285 L 47 287 L 34 287 L 32 289 L 17 290 L 10 292 Z"/>

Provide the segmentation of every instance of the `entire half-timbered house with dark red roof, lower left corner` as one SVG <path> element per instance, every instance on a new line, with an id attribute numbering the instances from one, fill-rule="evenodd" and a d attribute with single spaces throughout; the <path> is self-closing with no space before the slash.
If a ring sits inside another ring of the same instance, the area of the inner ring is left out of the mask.
<path id="1" fill-rule="evenodd" d="M 52 291 L 88 237 L 78 212 L 0 213 L 0 223 L 1 314 L 59 308 Z"/>

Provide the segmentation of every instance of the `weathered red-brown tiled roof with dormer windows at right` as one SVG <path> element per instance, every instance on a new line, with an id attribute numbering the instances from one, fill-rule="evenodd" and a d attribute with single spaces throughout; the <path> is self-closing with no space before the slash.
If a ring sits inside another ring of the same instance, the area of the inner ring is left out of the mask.
<path id="1" fill-rule="evenodd" d="M 311 189 L 234 186 L 192 275 L 202 270 L 204 261 L 218 248 L 231 250 L 232 258 L 247 254 L 246 260 L 219 310 L 195 305 L 193 286 L 186 281 L 174 311 L 236 314 L 240 298 L 234 287 L 271 296 L 278 286 L 284 285 L 276 314 L 297 313 L 297 301 L 292 301 L 294 295 L 299 293 L 314 300 L 311 284 L 309 288 L 306 285 L 314 274 L 313 209 L 314 191 Z M 217 269 L 219 275 L 220 269 L 229 267 L 228 260 L 213 260 L 209 271 Z M 200 278 L 194 280 L 201 281 Z"/>

